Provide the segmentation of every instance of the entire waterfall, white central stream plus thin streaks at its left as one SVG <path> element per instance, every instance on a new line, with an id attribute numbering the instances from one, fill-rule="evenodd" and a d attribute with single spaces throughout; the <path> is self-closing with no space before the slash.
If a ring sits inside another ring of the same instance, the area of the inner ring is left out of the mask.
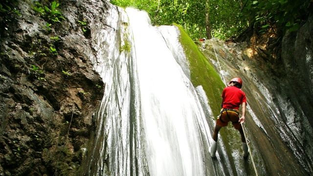
<path id="1" fill-rule="evenodd" d="M 201 106 L 206 96 L 191 84 L 182 49 L 173 55 L 167 45 L 173 40 L 172 49 L 181 48 L 179 30 L 153 27 L 144 11 L 126 11 L 129 22 L 125 11 L 113 9 L 107 17 L 112 28 L 97 36 L 103 58 L 94 69 L 106 87 L 95 113 L 87 174 L 207 175 L 203 145 L 211 135 Z"/>

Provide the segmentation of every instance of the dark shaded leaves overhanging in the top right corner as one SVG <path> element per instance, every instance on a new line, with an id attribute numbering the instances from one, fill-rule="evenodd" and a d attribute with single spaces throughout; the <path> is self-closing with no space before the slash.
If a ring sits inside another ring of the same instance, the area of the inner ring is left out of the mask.
<path id="1" fill-rule="evenodd" d="M 311 0 L 255 0 L 246 5 L 240 20 L 264 29 L 277 24 L 284 33 L 287 30 L 295 31 L 300 26 L 302 17 L 308 13 L 310 2 Z"/>

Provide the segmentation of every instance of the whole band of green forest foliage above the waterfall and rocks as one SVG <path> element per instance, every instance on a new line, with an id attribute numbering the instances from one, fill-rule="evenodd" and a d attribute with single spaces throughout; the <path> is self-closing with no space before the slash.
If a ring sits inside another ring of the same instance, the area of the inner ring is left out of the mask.
<path id="1" fill-rule="evenodd" d="M 158 4 L 159 2 L 159 4 Z M 111 0 L 120 7 L 133 6 L 148 12 L 153 25 L 181 25 L 197 40 L 205 37 L 205 12 L 213 37 L 239 36 L 250 26 L 266 32 L 278 24 L 279 30 L 294 31 L 308 13 L 311 0 Z M 207 3 L 207 9 L 206 4 Z"/>

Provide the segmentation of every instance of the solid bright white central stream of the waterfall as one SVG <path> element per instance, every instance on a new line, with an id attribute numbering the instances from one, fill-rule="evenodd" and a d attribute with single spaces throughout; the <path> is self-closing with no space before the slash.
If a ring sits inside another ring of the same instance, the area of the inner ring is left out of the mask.
<path id="1" fill-rule="evenodd" d="M 150 175 L 204 176 L 198 118 L 205 118 L 197 93 L 146 12 L 126 11 L 134 35 Z"/>

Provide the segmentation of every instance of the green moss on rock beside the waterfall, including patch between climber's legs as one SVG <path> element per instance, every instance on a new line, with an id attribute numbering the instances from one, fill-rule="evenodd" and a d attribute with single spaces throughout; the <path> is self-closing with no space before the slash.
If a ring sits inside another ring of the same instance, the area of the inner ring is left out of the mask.
<path id="1" fill-rule="evenodd" d="M 180 38 L 179 42 L 181 43 L 186 57 L 190 63 L 190 77 L 192 84 L 197 86 L 202 86 L 206 96 L 209 101 L 209 106 L 213 112 L 214 120 L 220 114 L 222 97 L 221 94 L 225 85 L 215 71 L 214 67 L 211 65 L 211 62 L 206 58 L 203 53 L 199 50 L 199 43 L 195 43 L 188 34 L 184 31 L 182 27 L 175 24 L 179 27 Z M 198 44 L 198 45 L 197 45 Z M 209 46 L 207 46 L 209 47 Z M 213 50 L 213 48 L 212 48 Z M 216 56 L 213 53 L 205 53 L 208 57 L 215 58 Z M 220 135 L 223 138 L 226 153 L 231 156 L 235 148 L 240 148 L 241 142 L 239 132 L 233 128 L 227 127 L 222 128 Z M 229 157 L 231 160 L 231 168 L 234 173 L 236 173 L 236 166 L 234 165 L 233 157 Z"/>

